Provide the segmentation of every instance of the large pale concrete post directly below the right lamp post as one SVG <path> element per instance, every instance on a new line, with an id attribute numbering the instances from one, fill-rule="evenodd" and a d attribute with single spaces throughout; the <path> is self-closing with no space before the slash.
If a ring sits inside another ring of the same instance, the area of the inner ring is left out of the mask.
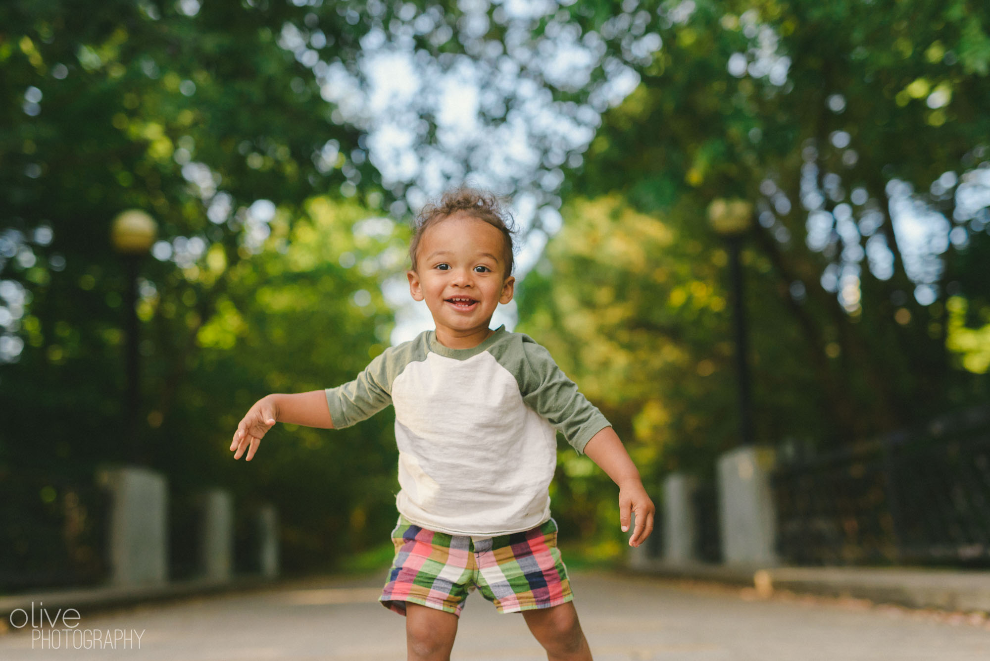
<path id="1" fill-rule="evenodd" d="M 776 565 L 776 508 L 768 447 L 743 445 L 719 457 L 722 557 L 730 565 Z"/>

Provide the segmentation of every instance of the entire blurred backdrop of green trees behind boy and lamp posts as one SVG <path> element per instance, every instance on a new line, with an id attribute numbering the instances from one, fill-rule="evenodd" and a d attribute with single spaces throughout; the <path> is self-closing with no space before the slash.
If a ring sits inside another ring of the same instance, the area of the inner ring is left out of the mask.
<path id="1" fill-rule="evenodd" d="M 52 485 L 127 456 L 127 275 L 108 235 L 128 208 L 159 225 L 138 306 L 151 463 L 176 489 L 276 499 L 293 566 L 391 516 L 388 421 L 280 430 L 249 465 L 223 440 L 265 392 L 336 385 L 387 343 L 404 233 L 379 217 L 430 181 L 526 191 L 531 238 L 563 198 L 520 330 L 642 441 L 647 473 L 735 442 L 716 198 L 758 219 L 743 265 L 760 439 L 844 442 L 985 398 L 988 25 L 967 0 L 4 3 L 9 502 L 44 485 L 61 508 Z M 477 136 L 452 138 L 433 78 L 366 116 L 373 48 L 427 77 L 476 65 Z M 389 122 L 408 125 L 415 172 L 369 142 Z M 595 475 L 562 455 L 555 507 L 583 534 L 614 523 Z"/>

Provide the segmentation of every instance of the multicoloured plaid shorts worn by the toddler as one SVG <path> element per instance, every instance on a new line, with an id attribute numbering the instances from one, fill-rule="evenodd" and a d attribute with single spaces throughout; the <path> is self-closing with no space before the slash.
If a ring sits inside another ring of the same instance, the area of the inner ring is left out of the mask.
<path id="1" fill-rule="evenodd" d="M 556 521 L 495 537 L 435 532 L 399 517 L 395 559 L 378 601 L 406 614 L 406 602 L 460 615 L 477 589 L 499 613 L 548 609 L 573 599 L 556 547 Z"/>

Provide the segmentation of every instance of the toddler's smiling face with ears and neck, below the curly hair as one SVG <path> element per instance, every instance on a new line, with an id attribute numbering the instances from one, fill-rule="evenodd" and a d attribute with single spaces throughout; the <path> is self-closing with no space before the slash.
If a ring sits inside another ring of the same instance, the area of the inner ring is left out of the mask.
<path id="1" fill-rule="evenodd" d="M 470 347 L 488 336 L 499 303 L 512 300 L 516 279 L 505 271 L 505 237 L 495 227 L 454 214 L 427 228 L 409 291 L 426 301 L 446 346 Z M 473 342 L 473 343 L 472 343 Z"/>

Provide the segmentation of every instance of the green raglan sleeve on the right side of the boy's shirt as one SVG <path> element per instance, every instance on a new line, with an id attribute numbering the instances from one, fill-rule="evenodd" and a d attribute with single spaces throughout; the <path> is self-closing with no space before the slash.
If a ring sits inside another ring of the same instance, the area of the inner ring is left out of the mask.
<path id="1" fill-rule="evenodd" d="M 526 339 L 529 341 L 524 341 L 523 351 L 529 369 L 522 379 L 523 401 L 556 427 L 578 454 L 583 454 L 591 437 L 611 425 L 557 367 L 549 351 L 529 337 Z"/>

